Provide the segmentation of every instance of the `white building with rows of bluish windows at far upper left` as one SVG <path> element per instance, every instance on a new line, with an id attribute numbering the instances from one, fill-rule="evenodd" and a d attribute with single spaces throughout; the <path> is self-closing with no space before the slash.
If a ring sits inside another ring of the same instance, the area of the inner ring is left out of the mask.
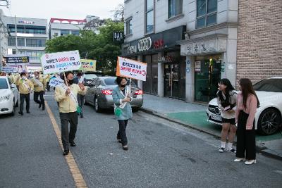
<path id="1" fill-rule="evenodd" d="M 29 56 L 28 66 L 41 67 L 39 57 L 44 54 L 48 39 L 47 19 L 3 16 L 2 20 L 11 33 L 8 37 L 8 55 Z"/>

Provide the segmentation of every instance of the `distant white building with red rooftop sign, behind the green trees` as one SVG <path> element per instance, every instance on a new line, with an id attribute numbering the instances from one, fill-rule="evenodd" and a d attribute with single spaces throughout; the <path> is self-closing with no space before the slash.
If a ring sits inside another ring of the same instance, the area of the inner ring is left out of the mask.
<path id="1" fill-rule="evenodd" d="M 87 23 L 95 19 L 99 19 L 99 17 L 87 15 L 84 20 L 51 18 L 49 23 L 49 39 L 54 39 L 57 36 L 80 35 L 80 30 L 83 30 Z"/>

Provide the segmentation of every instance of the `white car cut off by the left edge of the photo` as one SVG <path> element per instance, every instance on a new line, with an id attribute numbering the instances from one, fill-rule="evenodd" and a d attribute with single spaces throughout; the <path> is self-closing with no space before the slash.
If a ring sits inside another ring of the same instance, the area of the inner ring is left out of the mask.
<path id="1" fill-rule="evenodd" d="M 15 108 L 18 106 L 18 89 L 16 84 L 6 76 L 0 76 L 0 115 L 15 115 Z"/>

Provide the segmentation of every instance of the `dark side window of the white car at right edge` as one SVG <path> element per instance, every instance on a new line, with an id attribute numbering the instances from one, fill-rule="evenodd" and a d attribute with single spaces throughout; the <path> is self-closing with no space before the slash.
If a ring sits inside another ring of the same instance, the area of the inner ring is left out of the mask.
<path id="1" fill-rule="evenodd" d="M 261 92 L 282 92 L 282 79 L 267 79 L 254 84 L 254 89 Z"/>

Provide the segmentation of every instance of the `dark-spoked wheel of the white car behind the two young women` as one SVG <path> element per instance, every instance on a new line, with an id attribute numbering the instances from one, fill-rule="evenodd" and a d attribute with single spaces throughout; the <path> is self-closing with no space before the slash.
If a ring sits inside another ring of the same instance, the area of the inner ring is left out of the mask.
<path id="1" fill-rule="evenodd" d="M 281 114 L 273 108 L 264 110 L 259 116 L 258 130 L 264 135 L 274 134 L 281 124 Z"/>

